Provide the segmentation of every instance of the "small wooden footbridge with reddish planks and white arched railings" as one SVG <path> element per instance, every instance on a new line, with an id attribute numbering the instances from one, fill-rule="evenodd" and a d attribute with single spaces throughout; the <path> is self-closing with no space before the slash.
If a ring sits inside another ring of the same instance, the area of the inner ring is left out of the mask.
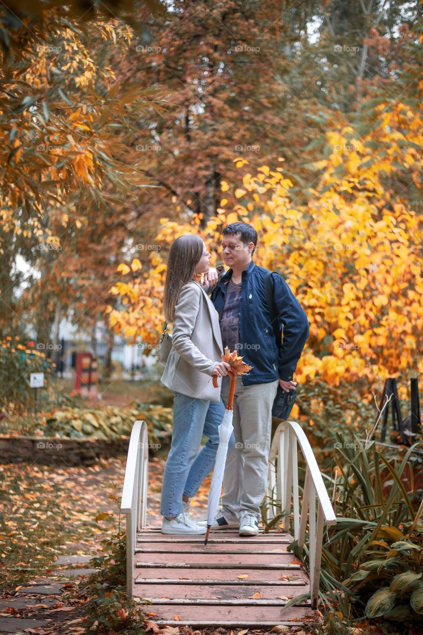
<path id="1" fill-rule="evenodd" d="M 306 462 L 301 500 L 298 450 Z M 261 529 L 254 537 L 241 537 L 237 530 L 212 531 L 207 545 L 204 535 L 164 535 L 160 526 L 146 525 L 147 486 L 147 429 L 144 421 L 136 421 L 120 507 L 126 514 L 127 596 L 140 599 L 141 610 L 150 613 L 154 622 L 259 628 L 299 625 L 313 617 L 323 528 L 336 519 L 299 424 L 282 422 L 271 446 L 268 519 L 286 512 L 277 529 L 266 533 Z M 294 535 L 289 533 L 290 520 Z M 310 575 L 287 551 L 294 539 L 303 546 L 306 538 Z M 285 608 L 296 596 L 304 597 Z M 143 599 L 151 604 L 143 604 Z"/>

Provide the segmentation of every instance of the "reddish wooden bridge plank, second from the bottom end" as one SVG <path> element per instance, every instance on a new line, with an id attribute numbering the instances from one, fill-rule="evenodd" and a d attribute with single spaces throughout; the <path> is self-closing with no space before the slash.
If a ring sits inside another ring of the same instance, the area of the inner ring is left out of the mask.
<path id="1" fill-rule="evenodd" d="M 134 584 L 134 595 L 138 598 L 151 599 L 159 598 L 157 603 L 162 604 L 161 600 L 169 599 L 174 602 L 178 602 L 179 599 L 214 599 L 215 602 L 218 598 L 222 598 L 222 603 L 225 603 L 226 599 L 249 599 L 254 602 L 253 596 L 257 591 L 261 593 L 261 599 L 265 601 L 274 600 L 283 603 L 282 598 L 289 598 L 290 596 L 299 596 L 309 591 L 309 585 L 293 585 L 292 582 L 289 586 L 281 587 L 278 584 L 268 584 L 262 586 L 261 583 L 254 582 L 254 584 L 198 584 L 198 580 L 195 580 L 195 585 L 186 584 L 185 580 L 178 580 L 178 585 L 163 585 L 159 580 L 150 581 L 152 584 Z M 163 597 L 164 596 L 164 597 Z M 167 596 L 167 597 L 166 597 Z M 281 598 L 282 596 L 282 598 Z M 285 599 L 285 602 L 287 600 Z M 305 603 L 304 603 L 305 604 Z"/>

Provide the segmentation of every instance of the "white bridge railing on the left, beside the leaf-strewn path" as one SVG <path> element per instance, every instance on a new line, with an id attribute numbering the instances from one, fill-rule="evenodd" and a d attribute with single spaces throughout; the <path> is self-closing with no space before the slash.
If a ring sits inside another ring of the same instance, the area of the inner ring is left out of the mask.
<path id="1" fill-rule="evenodd" d="M 127 451 L 120 512 L 126 514 L 126 594 L 133 598 L 136 533 L 146 526 L 148 433 L 145 421 L 133 425 Z"/>

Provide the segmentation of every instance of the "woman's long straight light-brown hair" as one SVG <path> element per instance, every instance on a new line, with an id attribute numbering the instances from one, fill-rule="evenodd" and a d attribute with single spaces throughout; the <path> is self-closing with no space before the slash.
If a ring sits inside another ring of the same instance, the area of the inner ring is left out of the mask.
<path id="1" fill-rule="evenodd" d="M 184 284 L 192 280 L 198 260 L 203 255 L 204 243 L 200 236 L 184 234 L 171 244 L 167 258 L 164 283 L 164 319 L 172 322 L 176 302 Z"/>

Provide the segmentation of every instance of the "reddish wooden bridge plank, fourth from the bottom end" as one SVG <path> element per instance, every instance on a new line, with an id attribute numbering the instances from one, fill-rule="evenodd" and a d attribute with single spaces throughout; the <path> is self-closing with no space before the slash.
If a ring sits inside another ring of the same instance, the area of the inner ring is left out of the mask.
<path id="1" fill-rule="evenodd" d="M 137 550 L 138 551 L 138 550 Z M 246 566 L 246 565 L 259 565 L 259 566 L 284 566 L 292 563 L 294 559 L 292 553 L 275 553 L 271 558 L 262 554 L 261 552 L 252 554 L 234 553 L 206 553 L 201 552 L 180 554 L 177 552 L 164 552 L 164 553 L 136 553 L 135 554 L 135 566 L 142 561 L 143 563 L 154 563 L 155 565 L 186 565 L 189 563 L 193 566 Z M 271 562 L 270 562 L 271 560 Z M 299 566 L 299 565 L 297 565 Z"/>

